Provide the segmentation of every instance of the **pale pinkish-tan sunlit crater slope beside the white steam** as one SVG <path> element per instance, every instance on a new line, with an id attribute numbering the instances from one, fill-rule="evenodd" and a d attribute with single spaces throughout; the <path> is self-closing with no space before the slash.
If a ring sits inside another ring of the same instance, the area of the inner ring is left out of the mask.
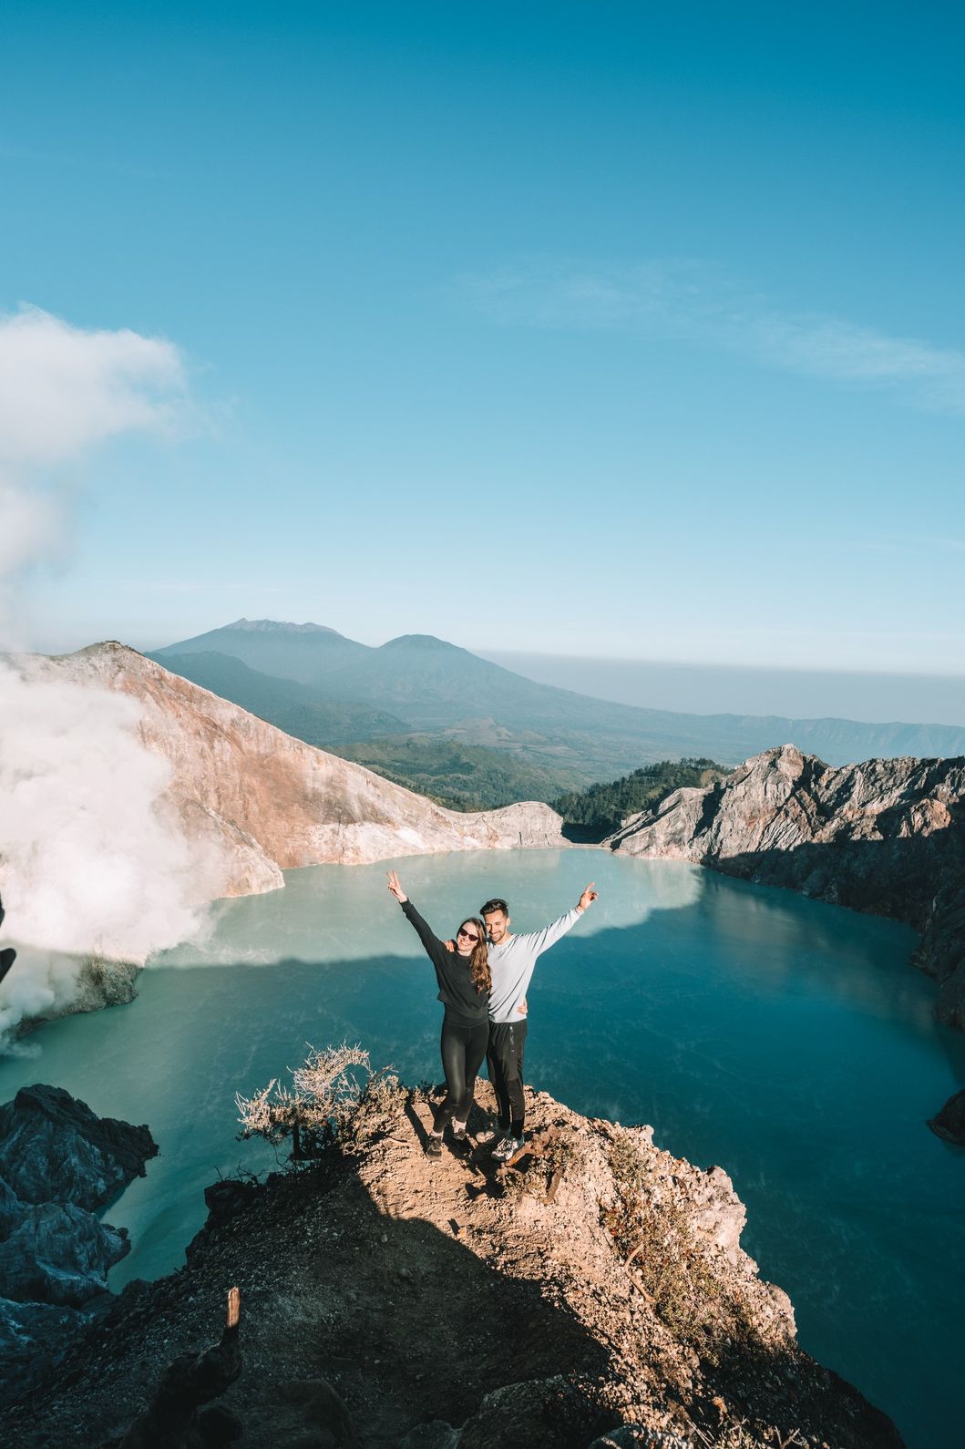
<path id="1" fill-rule="evenodd" d="M 225 895 L 274 890 L 283 884 L 281 871 L 300 865 L 565 845 L 562 822 L 549 806 L 443 810 L 119 643 L 20 665 L 138 701 L 145 745 L 171 764 L 168 801 L 188 835 L 210 842 L 226 862 Z"/>

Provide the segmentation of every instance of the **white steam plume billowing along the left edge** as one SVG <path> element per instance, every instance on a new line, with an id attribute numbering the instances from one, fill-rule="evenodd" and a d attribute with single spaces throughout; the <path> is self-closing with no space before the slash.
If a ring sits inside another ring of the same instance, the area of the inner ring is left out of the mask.
<path id="1" fill-rule="evenodd" d="M 0 643 L 4 598 L 58 548 L 70 503 L 57 465 L 122 432 L 168 430 L 183 404 L 170 342 L 35 309 L 0 319 Z M 199 898 L 219 893 L 138 723 L 128 697 L 0 661 L 0 893 L 17 946 L 0 1051 L 25 1017 L 70 1009 L 85 958 L 143 962 L 191 936 Z"/>

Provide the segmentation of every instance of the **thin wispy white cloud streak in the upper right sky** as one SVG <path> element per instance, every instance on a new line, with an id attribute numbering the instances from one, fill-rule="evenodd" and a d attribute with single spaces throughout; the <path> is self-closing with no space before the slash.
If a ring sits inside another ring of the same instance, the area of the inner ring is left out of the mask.
<path id="1" fill-rule="evenodd" d="M 619 329 L 677 339 L 762 367 L 890 387 L 910 406 L 965 414 L 965 352 L 843 317 L 782 310 L 700 261 L 543 262 L 467 277 L 459 291 L 507 326 Z"/>

